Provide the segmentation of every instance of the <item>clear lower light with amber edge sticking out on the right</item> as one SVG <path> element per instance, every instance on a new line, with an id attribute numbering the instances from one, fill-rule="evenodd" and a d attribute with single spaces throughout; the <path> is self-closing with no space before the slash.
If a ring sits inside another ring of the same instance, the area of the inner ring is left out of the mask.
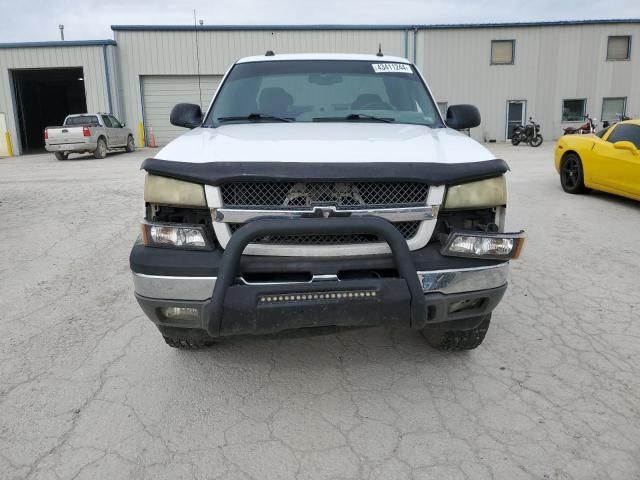
<path id="1" fill-rule="evenodd" d="M 440 253 L 453 257 L 509 260 L 520 256 L 524 239 L 524 232 L 495 234 L 453 232 L 447 237 Z"/>

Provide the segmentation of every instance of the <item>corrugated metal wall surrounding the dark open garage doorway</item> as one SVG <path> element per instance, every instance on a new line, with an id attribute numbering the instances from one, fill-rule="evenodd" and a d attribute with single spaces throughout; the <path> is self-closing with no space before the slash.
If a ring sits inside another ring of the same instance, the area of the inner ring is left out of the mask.
<path id="1" fill-rule="evenodd" d="M 105 51 L 111 76 L 112 103 L 117 105 L 117 78 L 115 72 L 115 46 L 69 46 L 45 48 L 0 48 L 0 112 L 6 113 L 14 153 L 20 153 L 20 140 L 14 110 L 11 70 L 26 68 L 82 67 L 89 111 L 108 111 Z M 118 110 L 114 108 L 116 114 Z"/>

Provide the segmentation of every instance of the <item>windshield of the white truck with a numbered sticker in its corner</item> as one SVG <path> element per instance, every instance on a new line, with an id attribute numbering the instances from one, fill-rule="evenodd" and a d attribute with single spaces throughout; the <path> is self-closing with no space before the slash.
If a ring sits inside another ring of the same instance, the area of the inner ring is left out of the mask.
<path id="1" fill-rule="evenodd" d="M 384 61 L 237 64 L 221 86 L 203 125 L 256 121 L 443 126 L 433 99 L 413 67 Z"/>

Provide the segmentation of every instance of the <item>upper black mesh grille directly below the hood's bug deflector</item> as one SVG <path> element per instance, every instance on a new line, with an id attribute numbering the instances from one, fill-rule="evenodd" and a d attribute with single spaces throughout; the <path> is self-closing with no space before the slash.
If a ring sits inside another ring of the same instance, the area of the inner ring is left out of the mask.
<path id="1" fill-rule="evenodd" d="M 287 210 L 416 207 L 425 205 L 429 193 L 418 182 L 238 182 L 220 189 L 226 208 Z"/>

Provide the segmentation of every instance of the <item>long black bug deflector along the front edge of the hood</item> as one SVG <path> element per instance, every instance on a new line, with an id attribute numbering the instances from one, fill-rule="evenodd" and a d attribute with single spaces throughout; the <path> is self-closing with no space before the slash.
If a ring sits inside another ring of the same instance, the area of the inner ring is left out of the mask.
<path id="1" fill-rule="evenodd" d="M 503 175 L 504 160 L 468 163 L 303 163 L 303 162 L 207 162 L 187 163 L 147 158 L 142 170 L 154 175 L 206 185 L 259 181 L 412 181 L 452 185 Z"/>

